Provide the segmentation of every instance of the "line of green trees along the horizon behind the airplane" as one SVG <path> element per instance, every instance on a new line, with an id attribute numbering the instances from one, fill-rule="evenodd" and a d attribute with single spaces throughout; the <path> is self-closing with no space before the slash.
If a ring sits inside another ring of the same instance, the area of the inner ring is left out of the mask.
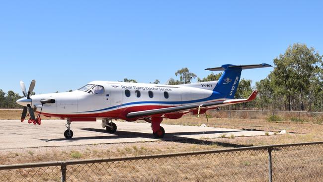
<path id="1" fill-rule="evenodd" d="M 274 70 L 266 78 L 256 82 L 253 87 L 251 87 L 251 80 L 240 80 L 235 98 L 246 98 L 253 90 L 257 90 L 256 99 L 252 102 L 232 105 L 230 108 L 323 111 L 322 58 L 323 56 L 315 48 L 308 48 L 306 44 L 295 43 L 288 46 L 284 54 L 280 54 L 273 60 Z M 175 72 L 175 77 L 178 79 L 170 78 L 166 84 L 189 84 L 195 78 L 197 82 L 216 81 L 221 74 L 211 73 L 201 79 L 188 68 L 182 68 Z M 136 80 L 127 78 L 123 82 L 137 83 Z M 150 83 L 159 84 L 160 81 L 155 80 Z M 21 108 L 15 102 L 21 97 L 13 91 L 5 93 L 0 90 L 0 108 Z"/>

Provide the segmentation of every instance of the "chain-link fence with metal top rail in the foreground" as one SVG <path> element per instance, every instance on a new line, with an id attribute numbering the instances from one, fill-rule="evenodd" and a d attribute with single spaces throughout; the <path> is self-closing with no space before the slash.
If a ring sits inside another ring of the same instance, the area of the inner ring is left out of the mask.
<path id="1" fill-rule="evenodd" d="M 0 166 L 1 182 L 323 181 L 323 142 Z"/>

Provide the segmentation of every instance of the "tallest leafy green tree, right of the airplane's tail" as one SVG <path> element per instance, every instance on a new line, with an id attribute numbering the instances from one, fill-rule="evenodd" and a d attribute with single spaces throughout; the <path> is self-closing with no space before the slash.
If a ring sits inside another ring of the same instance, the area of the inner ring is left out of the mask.
<path id="1" fill-rule="evenodd" d="M 315 69 L 322 63 L 322 57 L 314 48 L 296 43 L 289 46 L 284 55 L 274 59 L 275 69 L 271 73 L 275 92 L 284 95 L 288 101 L 288 110 L 299 105 L 304 110 L 304 98 L 309 94 L 311 78 Z M 295 107 L 297 108 L 297 107 Z"/>

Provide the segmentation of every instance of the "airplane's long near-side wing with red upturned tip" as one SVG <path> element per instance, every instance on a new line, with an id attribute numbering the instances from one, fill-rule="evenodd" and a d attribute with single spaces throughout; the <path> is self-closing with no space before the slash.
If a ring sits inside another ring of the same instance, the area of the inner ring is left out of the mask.
<path id="1" fill-rule="evenodd" d="M 144 110 L 144 111 L 137 111 L 137 112 L 129 112 L 127 114 L 127 118 L 138 118 L 143 116 L 151 116 L 154 114 L 165 114 L 170 112 L 176 112 L 176 111 L 185 111 L 193 108 L 198 107 L 214 107 L 214 106 L 224 106 L 224 105 L 231 105 L 236 103 L 242 103 L 242 102 L 249 102 L 253 100 L 258 91 L 253 91 L 251 95 L 248 98 L 245 99 L 230 99 L 230 100 L 222 100 L 222 101 L 215 101 L 215 102 L 207 102 L 202 104 L 191 104 L 191 105 L 183 105 L 183 106 L 175 106 L 175 107 L 168 107 L 168 108 L 161 108 L 161 109 L 152 109 L 152 110 Z"/>

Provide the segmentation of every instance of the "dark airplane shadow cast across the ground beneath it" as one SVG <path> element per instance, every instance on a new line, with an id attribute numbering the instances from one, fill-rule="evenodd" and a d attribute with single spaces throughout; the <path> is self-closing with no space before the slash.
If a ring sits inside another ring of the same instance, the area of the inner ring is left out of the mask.
<path id="1" fill-rule="evenodd" d="M 96 128 L 80 128 L 81 130 L 86 131 L 94 131 L 100 133 L 107 133 L 105 129 L 96 129 Z M 174 133 L 165 133 L 164 138 L 161 140 L 164 141 L 173 141 L 173 142 L 180 142 L 180 143 L 192 143 L 192 144 L 200 144 L 200 145 L 221 145 L 224 147 L 246 147 L 246 145 L 238 145 L 238 144 L 231 144 L 231 143 L 223 143 L 223 142 L 212 142 L 203 139 L 194 139 L 184 137 L 183 135 L 198 135 L 198 134 L 217 134 L 217 133 L 231 133 L 231 132 L 241 132 L 242 130 L 235 130 L 235 131 L 192 131 L 192 132 L 174 132 Z M 108 134 L 108 133 L 107 133 Z M 179 136 L 180 135 L 180 136 Z M 107 136 L 91 136 L 91 137 L 74 137 L 72 139 L 66 138 L 58 138 L 58 139 L 38 139 L 43 140 L 45 142 L 50 141 L 68 141 L 73 142 L 77 140 L 95 140 L 95 139 L 119 139 L 119 138 L 152 138 L 151 133 L 141 133 L 141 132 L 132 132 L 132 131 L 117 131 L 113 134 L 109 134 Z"/>

